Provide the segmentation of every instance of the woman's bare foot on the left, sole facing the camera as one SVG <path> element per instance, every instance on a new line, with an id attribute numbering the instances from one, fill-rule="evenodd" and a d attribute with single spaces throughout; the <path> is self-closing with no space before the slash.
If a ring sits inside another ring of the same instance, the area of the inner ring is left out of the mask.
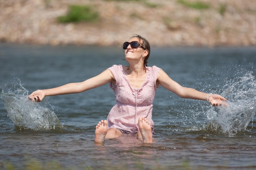
<path id="1" fill-rule="evenodd" d="M 108 130 L 108 122 L 101 120 L 96 125 L 94 142 L 104 142 Z"/>

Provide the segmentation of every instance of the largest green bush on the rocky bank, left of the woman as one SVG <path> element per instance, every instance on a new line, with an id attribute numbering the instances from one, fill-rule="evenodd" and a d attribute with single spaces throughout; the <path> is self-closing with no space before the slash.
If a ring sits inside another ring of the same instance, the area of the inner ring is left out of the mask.
<path id="1" fill-rule="evenodd" d="M 58 17 L 62 23 L 68 22 L 96 22 L 99 20 L 99 14 L 91 6 L 71 5 L 69 12 L 65 16 Z"/>

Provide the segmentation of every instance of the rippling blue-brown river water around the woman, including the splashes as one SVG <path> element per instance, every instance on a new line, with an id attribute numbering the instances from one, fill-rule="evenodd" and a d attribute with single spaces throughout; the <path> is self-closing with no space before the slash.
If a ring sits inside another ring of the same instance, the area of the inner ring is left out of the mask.
<path id="1" fill-rule="evenodd" d="M 81 82 L 114 64 L 120 47 L 0 44 L 0 170 L 256 169 L 256 48 L 154 48 L 149 66 L 185 87 L 217 93 L 228 107 L 182 99 L 160 87 L 154 142 L 133 134 L 94 144 L 97 122 L 115 105 L 108 85 L 28 100 L 37 89 Z"/>

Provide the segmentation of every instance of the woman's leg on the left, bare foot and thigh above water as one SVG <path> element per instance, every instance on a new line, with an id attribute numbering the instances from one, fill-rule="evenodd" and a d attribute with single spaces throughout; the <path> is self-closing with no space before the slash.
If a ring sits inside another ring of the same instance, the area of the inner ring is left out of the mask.
<path id="1" fill-rule="evenodd" d="M 108 122 L 106 120 L 101 120 L 96 125 L 95 130 L 95 142 L 104 142 L 105 138 L 118 138 L 122 135 L 122 132 L 115 128 L 108 129 Z"/>

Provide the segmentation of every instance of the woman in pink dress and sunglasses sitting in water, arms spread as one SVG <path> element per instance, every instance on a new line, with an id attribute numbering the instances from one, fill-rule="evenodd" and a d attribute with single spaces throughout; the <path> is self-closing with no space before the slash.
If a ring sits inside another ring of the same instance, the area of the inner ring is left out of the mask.
<path id="1" fill-rule="evenodd" d="M 110 83 L 117 103 L 108 114 L 107 120 L 101 120 L 96 125 L 94 141 L 103 142 L 105 138 L 118 138 L 123 133 L 135 133 L 137 138 L 145 143 L 152 143 L 152 103 L 159 85 L 183 98 L 208 100 L 213 106 L 226 101 L 218 94 L 207 94 L 182 87 L 162 69 L 156 66 L 148 67 L 150 45 L 144 37 L 132 36 L 123 44 L 123 49 L 129 66 L 113 65 L 84 82 L 37 90 L 30 94 L 30 99 L 41 102 L 45 96 L 81 93 Z"/>

